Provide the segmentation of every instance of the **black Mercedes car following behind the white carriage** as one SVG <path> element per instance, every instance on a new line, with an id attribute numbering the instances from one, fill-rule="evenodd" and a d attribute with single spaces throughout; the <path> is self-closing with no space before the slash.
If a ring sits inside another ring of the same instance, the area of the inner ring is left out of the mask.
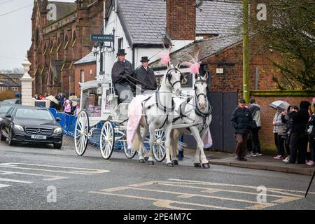
<path id="1" fill-rule="evenodd" d="M 62 147 L 62 127 L 50 111 L 35 106 L 13 106 L 0 122 L 0 139 L 13 146 L 17 142 L 53 144 Z"/>

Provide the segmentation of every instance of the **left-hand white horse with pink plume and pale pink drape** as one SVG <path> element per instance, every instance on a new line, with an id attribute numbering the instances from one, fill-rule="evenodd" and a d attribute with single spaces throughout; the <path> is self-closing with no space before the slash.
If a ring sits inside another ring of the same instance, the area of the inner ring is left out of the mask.
<path id="1" fill-rule="evenodd" d="M 129 148 L 135 148 L 139 145 L 139 162 L 145 163 L 144 139 L 150 133 L 150 150 L 148 151 L 148 164 L 153 162 L 153 145 L 155 141 L 155 131 L 165 130 L 165 148 L 167 153 L 167 166 L 173 167 L 170 158 L 170 141 L 172 131 L 172 120 L 174 117 L 173 93 L 181 94 L 182 73 L 179 71 L 179 65 L 174 66 L 170 62 L 169 50 L 165 50 L 160 55 L 161 64 L 167 66 L 167 71 L 163 77 L 162 83 L 153 94 L 144 97 L 139 95 L 134 97 L 128 108 L 127 125 L 127 144 Z M 144 127 L 141 134 L 140 125 Z"/>

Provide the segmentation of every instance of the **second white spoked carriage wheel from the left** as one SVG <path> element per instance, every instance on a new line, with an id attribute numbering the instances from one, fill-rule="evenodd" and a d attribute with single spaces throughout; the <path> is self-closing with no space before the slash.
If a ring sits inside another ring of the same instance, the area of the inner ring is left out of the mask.
<path id="1" fill-rule="evenodd" d="M 110 121 L 106 121 L 102 127 L 101 137 L 99 141 L 99 148 L 101 149 L 101 155 L 105 160 L 111 158 L 113 148 L 115 146 L 115 133 L 113 124 Z"/>

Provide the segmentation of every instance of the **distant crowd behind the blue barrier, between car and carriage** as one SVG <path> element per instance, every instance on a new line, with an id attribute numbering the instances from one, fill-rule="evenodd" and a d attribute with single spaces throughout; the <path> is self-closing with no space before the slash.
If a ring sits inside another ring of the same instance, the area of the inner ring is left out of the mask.
<path id="1" fill-rule="evenodd" d="M 66 96 L 63 93 L 59 94 L 52 94 L 52 97 L 55 98 L 55 100 L 50 100 L 50 108 L 56 109 L 57 111 L 63 111 L 66 114 L 78 116 L 78 113 L 80 112 L 80 102 L 76 102 L 76 104 L 73 104 L 73 101 L 71 99 L 66 99 Z M 47 100 L 48 94 L 35 94 L 34 98 L 36 100 Z"/>

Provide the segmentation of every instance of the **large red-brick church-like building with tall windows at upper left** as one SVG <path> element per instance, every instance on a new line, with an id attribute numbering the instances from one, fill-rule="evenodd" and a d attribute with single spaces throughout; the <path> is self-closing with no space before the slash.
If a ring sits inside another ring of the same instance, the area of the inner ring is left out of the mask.
<path id="1" fill-rule="evenodd" d="M 57 20 L 48 20 L 48 4 L 56 7 Z M 31 47 L 27 52 L 34 77 L 34 93 L 75 92 L 77 62 L 92 50 L 90 34 L 99 33 L 103 0 L 77 0 L 75 3 L 34 1 L 31 16 Z"/>

